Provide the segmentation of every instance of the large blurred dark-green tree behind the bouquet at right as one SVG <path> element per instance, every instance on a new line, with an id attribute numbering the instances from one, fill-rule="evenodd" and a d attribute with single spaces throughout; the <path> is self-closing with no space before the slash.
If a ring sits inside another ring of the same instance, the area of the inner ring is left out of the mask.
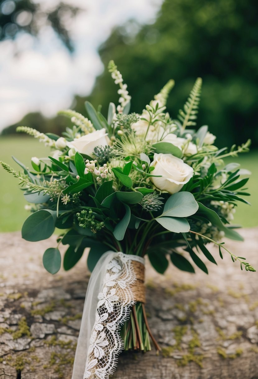
<path id="1" fill-rule="evenodd" d="M 196 77 L 203 78 L 199 123 L 209 124 L 219 146 L 258 145 L 258 7 L 251 0 L 165 0 L 157 19 L 140 27 L 131 20 L 113 30 L 99 53 L 104 66 L 118 65 L 140 112 L 168 81 L 176 80 L 168 101 L 173 117 L 187 99 Z M 140 29 L 140 30 L 139 30 Z M 117 99 L 107 69 L 90 101 Z M 83 99 L 77 110 L 85 113 Z"/>

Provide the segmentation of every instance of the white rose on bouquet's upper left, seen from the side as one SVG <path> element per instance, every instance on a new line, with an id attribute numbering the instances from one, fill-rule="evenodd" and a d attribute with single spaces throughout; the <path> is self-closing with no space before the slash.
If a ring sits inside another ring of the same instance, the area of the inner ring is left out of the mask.
<path id="1" fill-rule="evenodd" d="M 80 138 L 74 139 L 69 147 L 74 147 L 76 151 L 82 154 L 92 156 L 96 146 L 109 145 L 109 138 L 107 137 L 106 129 L 96 130 L 95 132 L 86 134 Z"/>

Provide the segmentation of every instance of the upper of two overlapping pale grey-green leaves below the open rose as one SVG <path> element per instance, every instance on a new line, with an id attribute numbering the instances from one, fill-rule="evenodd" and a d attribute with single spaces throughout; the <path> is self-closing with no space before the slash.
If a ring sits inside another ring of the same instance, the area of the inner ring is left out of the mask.
<path id="1" fill-rule="evenodd" d="M 187 217 L 198 210 L 198 203 L 190 192 L 177 192 L 165 203 L 162 216 Z"/>

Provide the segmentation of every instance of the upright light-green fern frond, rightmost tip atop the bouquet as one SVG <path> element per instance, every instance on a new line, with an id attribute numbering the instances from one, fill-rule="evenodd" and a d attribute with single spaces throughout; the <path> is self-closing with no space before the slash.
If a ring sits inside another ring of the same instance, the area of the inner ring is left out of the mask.
<path id="1" fill-rule="evenodd" d="M 197 78 L 193 89 L 187 99 L 187 102 L 183 106 L 183 110 L 179 110 L 178 118 L 182 121 L 182 129 L 184 130 L 187 126 L 194 126 L 196 122 L 193 120 L 197 119 L 198 107 L 200 102 L 200 94 L 202 89 L 202 79 Z"/>

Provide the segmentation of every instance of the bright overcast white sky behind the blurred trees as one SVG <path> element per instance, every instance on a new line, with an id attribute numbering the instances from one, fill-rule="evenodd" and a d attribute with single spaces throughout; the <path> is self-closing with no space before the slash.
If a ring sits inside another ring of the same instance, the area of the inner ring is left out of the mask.
<path id="1" fill-rule="evenodd" d="M 53 4 L 56 0 L 38 0 Z M 35 0 L 36 2 L 36 0 Z M 0 130 L 29 111 L 53 116 L 70 106 L 74 94 L 91 92 L 103 70 L 97 48 L 116 25 L 130 18 L 152 22 L 161 0 L 73 0 L 85 9 L 70 25 L 75 42 L 71 56 L 51 29 L 35 40 L 27 34 L 0 42 Z M 22 53 L 14 56 L 14 48 Z"/>

